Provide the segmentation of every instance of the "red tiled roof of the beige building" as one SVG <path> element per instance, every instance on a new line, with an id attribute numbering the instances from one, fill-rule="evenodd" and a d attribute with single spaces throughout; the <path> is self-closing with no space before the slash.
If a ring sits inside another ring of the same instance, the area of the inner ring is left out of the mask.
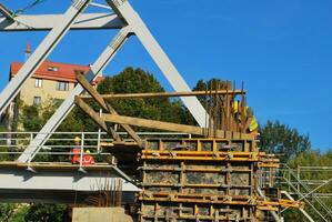
<path id="1" fill-rule="evenodd" d="M 10 64 L 10 77 L 14 77 L 20 68 L 23 65 L 21 62 L 12 62 Z M 50 68 L 58 68 L 57 71 L 51 71 Z M 76 72 L 87 72 L 89 71 L 89 65 L 79 65 L 79 64 L 68 64 L 60 62 L 44 61 L 40 68 L 32 75 L 33 78 L 41 78 L 48 80 L 59 80 L 68 82 L 77 82 Z M 94 80 L 94 83 L 100 83 L 103 80 L 102 77 L 98 77 Z"/>

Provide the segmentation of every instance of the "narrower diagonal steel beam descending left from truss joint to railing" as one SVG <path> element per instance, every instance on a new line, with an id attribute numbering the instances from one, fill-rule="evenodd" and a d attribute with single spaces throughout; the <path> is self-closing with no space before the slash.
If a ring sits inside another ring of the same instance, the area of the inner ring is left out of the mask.
<path id="1" fill-rule="evenodd" d="M 119 33 L 113 38 L 110 44 L 97 59 L 97 61 L 91 65 L 90 71 L 85 74 L 88 81 L 91 82 L 95 78 L 95 75 L 109 64 L 109 62 L 114 58 L 120 48 L 125 43 L 130 34 L 131 29 L 129 27 L 122 28 L 119 31 Z M 57 130 L 57 128 L 61 124 L 61 122 L 74 107 L 74 97 L 81 94 L 82 92 L 83 88 L 78 84 L 73 89 L 71 94 L 62 102 L 54 114 L 49 119 L 41 131 L 30 142 L 24 152 L 19 157 L 19 162 L 28 162 L 34 158 L 36 153 L 38 153 L 42 145 L 47 142 L 51 133 Z"/>

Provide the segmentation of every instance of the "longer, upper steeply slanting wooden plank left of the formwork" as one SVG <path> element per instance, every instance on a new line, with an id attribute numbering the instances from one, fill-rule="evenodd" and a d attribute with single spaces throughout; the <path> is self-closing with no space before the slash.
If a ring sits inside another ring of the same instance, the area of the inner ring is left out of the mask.
<path id="1" fill-rule="evenodd" d="M 118 114 L 117 111 L 108 102 L 103 100 L 103 98 L 98 93 L 98 91 L 90 84 L 90 82 L 82 74 L 78 73 L 77 80 L 91 94 L 91 97 L 101 105 L 103 110 L 110 112 L 111 114 Z M 134 132 L 134 130 L 130 125 L 121 124 L 121 127 L 139 144 L 139 147 L 143 145 L 141 138 Z M 120 138 L 118 133 L 117 137 Z"/>

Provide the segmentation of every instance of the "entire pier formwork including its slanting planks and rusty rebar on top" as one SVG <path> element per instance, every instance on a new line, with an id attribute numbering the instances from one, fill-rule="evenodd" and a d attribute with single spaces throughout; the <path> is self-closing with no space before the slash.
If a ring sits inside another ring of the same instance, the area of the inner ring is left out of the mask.
<path id="1" fill-rule="evenodd" d="M 129 159 L 123 158 L 123 149 L 113 149 L 113 154 L 119 163 L 135 165 L 130 157 L 139 152 L 142 188 L 138 196 L 140 221 L 264 221 L 262 211 L 278 211 L 281 205 L 294 204 L 280 199 L 271 201 L 259 190 L 260 169 L 278 168 L 279 161 L 259 151 L 255 141 L 258 124 L 252 110 L 245 104 L 243 87 L 237 91 L 230 82 L 223 87 L 215 82 L 215 89 L 224 90 L 212 91 L 213 85 L 210 85 L 210 92 L 100 95 L 82 75 L 77 79 L 105 113 L 95 112 L 83 97 L 76 97 L 76 104 L 109 132 L 114 139 L 114 148 L 128 148 L 129 144 L 107 124 L 109 122 L 120 124 L 133 139 L 133 147 L 138 148 L 130 149 Z M 119 115 L 105 101 L 115 97 L 180 94 L 205 94 L 209 113 L 205 128 Z M 241 95 L 241 101 L 237 101 L 238 95 Z M 130 125 L 204 139 L 143 140 Z"/>

